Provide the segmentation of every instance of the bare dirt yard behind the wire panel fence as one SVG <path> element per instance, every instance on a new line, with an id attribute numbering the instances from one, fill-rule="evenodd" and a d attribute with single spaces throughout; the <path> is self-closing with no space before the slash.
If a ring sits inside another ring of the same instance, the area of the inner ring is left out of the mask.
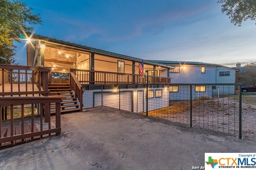
<path id="1" fill-rule="evenodd" d="M 190 125 L 190 101 L 170 101 L 170 106 L 148 115 Z M 144 113 L 145 114 L 145 113 Z M 239 103 L 229 98 L 201 97 L 192 100 L 192 125 L 239 135 Z M 242 137 L 256 139 L 256 103 L 242 104 Z"/>

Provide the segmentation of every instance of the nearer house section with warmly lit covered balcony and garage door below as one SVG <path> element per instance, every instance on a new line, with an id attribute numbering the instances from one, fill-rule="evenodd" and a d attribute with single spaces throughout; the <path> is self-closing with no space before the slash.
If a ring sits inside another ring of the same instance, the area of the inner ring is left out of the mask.
<path id="1" fill-rule="evenodd" d="M 128 111 L 145 111 L 146 76 L 142 76 L 138 69 L 142 59 L 36 34 L 26 37 L 28 66 L 46 66 L 52 72 L 70 74 L 70 82 L 52 78 L 49 89 L 56 88 L 60 82 L 62 85 L 70 84 L 74 94 L 71 91 L 69 96 L 78 98 L 73 99 L 75 103 L 72 106 L 88 108 L 104 105 Z M 162 101 L 161 106 L 149 107 L 149 110 L 168 106 L 169 92 L 163 84 L 170 83 L 169 72 L 172 69 L 173 66 L 144 60 L 144 74 L 148 74 L 148 82 L 158 84 L 148 89 L 148 102 Z M 54 92 L 60 95 L 58 89 Z M 62 96 L 68 97 L 65 93 Z M 123 100 L 119 98 L 124 98 L 125 102 L 120 103 Z M 64 100 L 63 108 L 69 102 Z M 70 108 L 66 111 L 72 111 Z M 65 112 L 65 108 L 62 111 Z"/>

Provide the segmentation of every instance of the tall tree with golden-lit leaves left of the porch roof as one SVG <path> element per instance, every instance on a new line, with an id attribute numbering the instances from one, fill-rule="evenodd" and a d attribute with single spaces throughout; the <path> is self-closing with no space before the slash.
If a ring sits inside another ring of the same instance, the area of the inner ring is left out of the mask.
<path id="1" fill-rule="evenodd" d="M 40 14 L 32 14 L 32 8 L 18 0 L 0 0 L 0 63 L 14 64 L 16 46 L 20 42 L 19 35 L 32 32 L 32 24 L 41 23 Z"/>

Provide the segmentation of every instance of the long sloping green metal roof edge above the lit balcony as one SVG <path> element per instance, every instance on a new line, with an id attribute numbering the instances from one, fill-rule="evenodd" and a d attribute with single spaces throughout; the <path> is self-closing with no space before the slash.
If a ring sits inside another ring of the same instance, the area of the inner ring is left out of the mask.
<path id="1" fill-rule="evenodd" d="M 78 48 L 80 50 L 82 49 L 82 50 L 85 50 L 85 51 L 90 51 L 90 52 L 94 52 L 94 53 L 98 53 L 98 54 L 104 54 L 104 55 L 108 55 L 108 56 L 111 56 L 111 57 L 117 57 L 117 58 L 127 59 L 127 60 L 131 60 L 131 61 L 137 61 L 137 62 L 142 62 L 143 61 L 144 64 L 151 64 L 151 65 L 155 65 L 155 66 L 161 66 L 161 67 L 172 68 L 172 69 L 175 68 L 173 66 L 169 66 L 169 65 L 166 65 L 166 64 L 163 64 L 163 63 L 156 63 L 154 61 L 148 61 L 148 60 L 139 59 L 139 58 L 136 58 L 136 57 L 130 57 L 128 55 L 122 55 L 122 54 L 113 53 L 113 52 L 110 52 L 110 51 L 105 51 L 105 50 L 102 50 L 102 49 L 96 49 L 96 48 L 93 48 L 93 47 L 88 47 L 86 45 L 70 43 L 68 41 L 62 41 L 62 40 L 58 40 L 58 39 L 55 39 L 55 38 L 45 37 L 45 36 L 42 36 L 42 35 L 37 35 L 37 34 L 32 34 L 32 33 L 26 33 L 26 34 L 31 39 L 39 39 L 39 40 L 46 41 L 46 42 L 49 42 L 49 43 L 56 43 L 56 44 L 59 44 L 59 45 L 66 45 L 68 47 L 74 47 L 74 48 Z"/>

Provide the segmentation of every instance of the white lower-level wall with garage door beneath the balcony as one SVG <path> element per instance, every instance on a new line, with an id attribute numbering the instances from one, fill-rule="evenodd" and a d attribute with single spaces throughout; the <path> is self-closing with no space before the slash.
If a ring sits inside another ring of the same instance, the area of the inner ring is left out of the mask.
<path id="1" fill-rule="evenodd" d="M 148 88 L 154 90 L 154 98 L 148 99 L 148 111 L 169 106 L 168 88 Z M 162 97 L 156 98 L 156 90 L 162 90 Z M 146 88 L 121 89 L 120 109 L 134 112 L 146 111 Z M 94 103 L 93 103 L 94 101 Z M 83 108 L 93 106 L 109 106 L 119 108 L 119 91 L 103 90 L 103 104 L 101 90 L 85 90 L 83 94 Z M 132 108 L 133 106 L 133 108 Z"/>

